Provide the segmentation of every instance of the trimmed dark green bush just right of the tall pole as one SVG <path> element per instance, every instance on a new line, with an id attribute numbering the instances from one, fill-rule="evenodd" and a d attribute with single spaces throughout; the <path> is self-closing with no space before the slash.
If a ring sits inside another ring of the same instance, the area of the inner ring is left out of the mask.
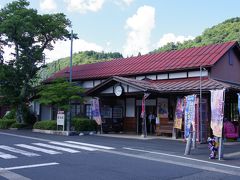
<path id="1" fill-rule="evenodd" d="M 87 118 L 74 118 L 72 126 L 75 131 L 96 131 L 97 124 L 95 121 Z"/>

